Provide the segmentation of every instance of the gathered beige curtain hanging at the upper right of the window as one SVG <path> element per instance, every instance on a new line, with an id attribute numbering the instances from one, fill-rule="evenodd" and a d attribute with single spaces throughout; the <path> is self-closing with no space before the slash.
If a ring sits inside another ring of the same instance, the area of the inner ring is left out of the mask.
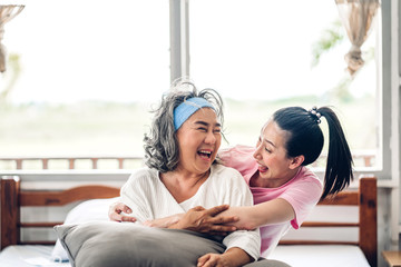
<path id="1" fill-rule="evenodd" d="M 345 55 L 348 71 L 353 76 L 364 63 L 361 46 L 366 40 L 380 6 L 379 0 L 335 0 L 342 24 L 352 43 Z"/>

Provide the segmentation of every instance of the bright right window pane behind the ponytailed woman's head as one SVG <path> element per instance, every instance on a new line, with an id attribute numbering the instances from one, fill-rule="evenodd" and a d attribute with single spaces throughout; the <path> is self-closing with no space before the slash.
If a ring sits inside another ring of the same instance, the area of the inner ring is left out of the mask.
<path id="1" fill-rule="evenodd" d="M 333 106 L 355 167 L 376 166 L 376 24 L 362 47 L 366 63 L 351 81 L 344 71 L 351 43 L 335 2 L 314 0 L 307 7 L 303 1 L 192 0 L 190 75 L 226 98 L 232 144 L 254 145 L 278 108 Z M 331 38 L 329 30 L 342 40 L 313 65 L 313 51 Z"/>

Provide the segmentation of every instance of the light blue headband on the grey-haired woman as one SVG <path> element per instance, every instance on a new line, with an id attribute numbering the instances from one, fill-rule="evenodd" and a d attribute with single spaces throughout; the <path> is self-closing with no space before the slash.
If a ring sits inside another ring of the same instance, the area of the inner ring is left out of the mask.
<path id="1" fill-rule="evenodd" d="M 209 103 L 206 99 L 198 98 L 198 97 L 189 98 L 189 99 L 185 100 L 184 102 L 182 102 L 180 105 L 178 105 L 178 107 L 176 107 L 174 109 L 174 128 L 175 128 L 175 130 L 178 130 L 179 127 L 193 113 L 195 113 L 195 111 L 197 111 L 200 108 L 212 108 L 213 110 L 215 110 L 215 108 L 213 107 L 212 103 Z"/>

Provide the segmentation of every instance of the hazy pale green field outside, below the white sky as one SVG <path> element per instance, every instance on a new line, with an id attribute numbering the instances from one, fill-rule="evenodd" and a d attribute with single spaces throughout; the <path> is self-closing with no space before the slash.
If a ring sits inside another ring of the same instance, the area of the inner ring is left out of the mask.
<path id="1" fill-rule="evenodd" d="M 375 148 L 372 99 L 333 106 L 353 149 Z M 226 99 L 225 136 L 229 144 L 255 145 L 274 110 L 287 106 L 326 105 L 319 99 L 234 101 Z M 0 108 L 0 157 L 143 155 L 143 136 L 150 125 L 149 105 L 81 102 L 72 106 L 23 105 Z M 355 113 L 355 110 L 359 110 Z M 363 110 L 363 111 L 362 111 Z M 370 123 L 368 123 L 370 122 Z"/>

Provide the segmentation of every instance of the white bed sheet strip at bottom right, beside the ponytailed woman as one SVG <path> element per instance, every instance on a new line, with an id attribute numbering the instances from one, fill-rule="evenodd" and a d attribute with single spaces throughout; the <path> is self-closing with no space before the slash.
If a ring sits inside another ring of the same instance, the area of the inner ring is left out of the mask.
<path id="1" fill-rule="evenodd" d="M 351 245 L 281 245 L 268 258 L 293 267 L 370 267 L 361 248 Z"/>

